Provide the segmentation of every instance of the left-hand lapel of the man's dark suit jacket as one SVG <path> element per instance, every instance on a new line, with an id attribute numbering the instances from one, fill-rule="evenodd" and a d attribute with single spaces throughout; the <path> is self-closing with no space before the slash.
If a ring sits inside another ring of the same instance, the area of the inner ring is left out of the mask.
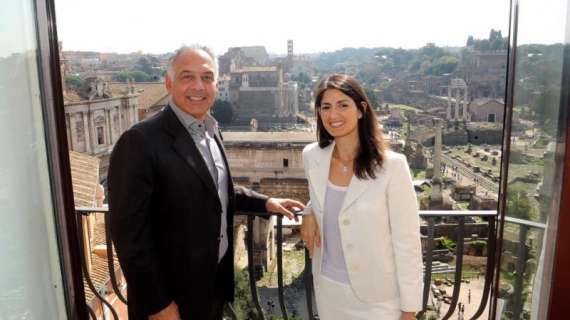
<path id="1" fill-rule="evenodd" d="M 180 123 L 170 106 L 167 106 L 164 109 L 163 115 L 165 120 L 164 128 L 174 138 L 174 142 L 172 144 L 174 151 L 176 151 L 176 153 L 185 160 L 186 164 L 196 172 L 206 187 L 214 194 L 217 194 L 218 190 L 210 176 L 210 171 L 208 170 L 200 151 L 196 147 L 196 144 L 188 131 Z"/>

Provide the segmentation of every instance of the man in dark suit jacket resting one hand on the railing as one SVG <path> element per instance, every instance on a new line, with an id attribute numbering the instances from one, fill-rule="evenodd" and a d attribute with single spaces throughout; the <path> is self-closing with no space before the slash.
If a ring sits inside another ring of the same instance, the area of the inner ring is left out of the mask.
<path id="1" fill-rule="evenodd" d="M 234 187 L 215 120 L 217 63 L 183 47 L 166 75 L 169 105 L 117 142 L 108 174 L 111 235 L 129 319 L 221 319 L 233 301 L 233 214 L 292 217 L 294 200 Z"/>

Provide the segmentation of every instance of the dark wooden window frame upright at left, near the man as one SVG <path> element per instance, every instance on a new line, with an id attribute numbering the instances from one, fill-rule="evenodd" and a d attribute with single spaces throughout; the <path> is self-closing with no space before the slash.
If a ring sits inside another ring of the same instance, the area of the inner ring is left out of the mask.
<path id="1" fill-rule="evenodd" d="M 89 319 L 67 145 L 54 0 L 34 1 L 42 114 L 68 319 Z"/>

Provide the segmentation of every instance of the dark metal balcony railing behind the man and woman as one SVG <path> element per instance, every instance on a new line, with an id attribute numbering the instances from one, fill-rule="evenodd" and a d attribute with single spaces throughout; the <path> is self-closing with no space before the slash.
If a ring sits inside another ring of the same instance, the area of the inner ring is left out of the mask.
<path id="1" fill-rule="evenodd" d="M 78 227 L 80 226 L 81 223 L 81 218 L 80 216 L 88 216 L 90 214 L 93 213 L 103 213 L 105 214 L 105 232 L 106 232 L 106 242 L 107 242 L 107 264 L 108 264 L 108 269 L 109 269 L 109 276 L 110 276 L 110 282 L 112 285 L 112 288 L 114 290 L 114 293 L 117 294 L 118 298 L 123 301 L 125 304 L 127 303 L 127 299 L 123 296 L 121 290 L 120 290 L 120 286 L 118 284 L 117 278 L 116 278 L 116 270 L 114 269 L 114 261 L 113 261 L 113 246 L 112 246 L 112 241 L 110 238 L 110 234 L 109 234 L 109 217 L 106 213 L 109 212 L 109 210 L 107 208 L 92 208 L 92 207 L 77 207 L 76 208 L 76 212 L 78 213 L 78 217 L 77 217 L 77 223 L 78 223 Z M 253 303 L 255 305 L 255 311 L 256 311 L 256 315 L 257 315 L 257 319 L 261 319 L 264 320 L 266 319 L 264 310 L 261 306 L 260 303 L 260 299 L 259 299 L 259 295 L 258 295 L 258 290 L 257 290 L 257 286 L 256 286 L 256 281 L 255 281 L 255 265 L 254 265 L 254 219 L 256 217 L 261 217 L 261 218 L 270 218 L 272 216 L 274 216 L 275 214 L 270 214 L 267 212 L 261 212 L 261 213 L 257 213 L 257 212 L 239 212 L 236 213 L 236 215 L 240 215 L 240 216 L 246 216 L 247 217 L 247 233 L 246 233 L 246 245 L 247 245 L 247 249 L 248 249 L 248 271 L 249 271 L 249 285 L 250 285 L 250 289 L 251 289 L 251 295 L 252 295 L 252 300 Z M 279 304 L 280 304 L 280 310 L 281 310 L 281 314 L 282 317 L 284 319 L 288 319 L 288 312 L 287 312 L 287 308 L 285 306 L 285 297 L 284 297 L 284 282 L 283 282 L 283 247 L 282 247 L 282 242 L 283 242 L 283 232 L 282 232 L 282 228 L 283 223 L 282 223 L 282 217 L 279 215 L 277 216 L 277 230 L 276 230 L 276 240 L 277 240 L 277 281 L 278 281 L 278 295 L 279 295 Z M 434 247 L 433 247 L 433 239 L 434 239 L 434 235 L 435 235 L 435 229 L 437 229 L 438 225 L 435 224 L 435 219 L 438 217 L 451 217 L 451 218 L 455 218 L 457 219 L 457 224 L 458 227 L 456 229 L 456 243 L 457 243 L 457 247 L 456 247 L 456 265 L 455 265 L 455 272 L 454 272 L 454 290 L 453 290 L 453 295 L 452 295 L 452 302 L 450 304 L 450 307 L 446 313 L 446 315 L 442 318 L 442 319 L 449 319 L 449 317 L 451 317 L 451 315 L 454 313 L 456 307 L 457 307 L 457 302 L 458 302 L 458 296 L 459 296 L 459 291 L 460 291 L 460 287 L 461 287 L 461 276 L 462 276 L 462 257 L 463 257 L 463 239 L 465 237 L 465 218 L 466 217 L 481 217 L 481 218 L 485 218 L 486 223 L 488 224 L 488 228 L 489 228 L 489 234 L 488 234 L 488 247 L 487 247 L 487 267 L 486 267 L 486 273 L 485 273 L 485 283 L 484 283 L 484 288 L 483 288 L 483 294 L 482 294 L 482 298 L 481 298 L 481 302 L 479 304 L 479 307 L 477 309 L 477 311 L 475 312 L 475 314 L 473 314 L 471 316 L 470 319 L 474 320 L 474 319 L 478 319 L 484 312 L 488 300 L 489 300 L 489 296 L 490 296 L 490 291 L 491 291 L 491 281 L 493 278 L 493 273 L 494 273 L 494 265 L 495 265 L 495 261 L 496 261 L 496 257 L 495 257 L 495 248 L 497 247 L 497 243 L 496 243 L 496 221 L 497 221 L 497 212 L 494 210 L 476 210 L 476 211 L 469 211 L 469 210 L 463 210 L 463 211 L 452 211 L 452 210 L 437 210 L 437 211 L 428 211 L 428 210 L 422 210 L 419 212 L 419 216 L 423 219 L 425 219 L 427 221 L 427 248 L 425 251 L 425 273 L 424 273 L 424 291 L 423 291 L 423 304 L 422 304 L 422 308 L 423 310 L 418 313 L 418 318 L 421 317 L 424 313 L 425 310 L 427 310 L 427 304 L 428 304 L 428 299 L 429 299 L 429 290 L 431 288 L 431 282 L 432 282 L 432 277 L 431 277 L 431 271 L 432 271 L 432 265 L 433 265 L 433 254 L 435 252 Z M 518 218 L 511 218 L 511 217 L 507 217 L 505 218 L 505 222 L 506 223 L 514 223 L 514 224 L 518 224 L 521 226 L 521 228 L 523 229 L 530 229 L 530 228 L 539 228 L 539 229 L 545 229 L 546 225 L 543 223 L 539 223 L 539 222 L 534 222 L 534 221 L 529 221 L 529 220 L 524 220 L 524 219 L 518 219 Z M 83 239 L 83 230 L 82 228 L 78 228 L 80 232 L 79 237 L 80 240 Z M 524 250 L 524 248 L 522 248 L 522 246 L 524 246 L 524 243 L 520 246 L 520 250 Z M 82 248 L 81 248 L 82 249 Z M 521 251 L 522 252 L 522 251 Z M 82 254 L 85 255 L 87 253 L 83 252 L 82 250 Z M 88 286 L 90 288 L 90 290 L 92 290 L 94 292 L 94 294 L 96 295 L 96 297 L 107 307 L 110 309 L 111 313 L 113 314 L 113 317 L 116 319 L 118 318 L 116 311 L 114 310 L 114 308 L 111 306 L 111 304 L 106 301 L 101 294 L 98 292 L 98 288 L 95 288 L 89 274 L 87 273 L 87 267 L 86 267 L 86 261 L 83 259 L 82 261 L 83 264 L 83 270 L 84 270 L 84 274 L 85 274 L 85 278 L 86 281 L 88 283 Z M 315 309 L 314 309 L 314 286 L 313 286 L 313 276 L 311 273 L 311 259 L 309 258 L 308 255 L 308 251 L 305 250 L 305 269 L 304 269 L 304 283 L 305 283 L 305 290 L 306 290 L 306 303 L 307 303 L 307 313 L 309 315 L 309 319 L 318 319 L 318 314 L 316 314 Z M 233 311 L 232 306 L 228 305 L 228 308 L 230 308 L 230 310 Z M 95 313 L 92 309 L 88 309 L 89 315 L 91 317 L 95 316 Z M 232 316 L 232 319 L 237 319 L 235 316 L 235 312 L 230 312 L 230 315 Z"/>

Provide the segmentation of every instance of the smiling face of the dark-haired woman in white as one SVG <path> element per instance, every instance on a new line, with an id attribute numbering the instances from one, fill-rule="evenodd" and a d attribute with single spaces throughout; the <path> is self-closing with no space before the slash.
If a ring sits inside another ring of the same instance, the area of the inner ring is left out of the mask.
<path id="1" fill-rule="evenodd" d="M 351 97 L 337 89 L 328 89 L 323 94 L 319 115 L 323 126 L 334 138 L 358 136 L 358 119 L 362 113 Z"/>

